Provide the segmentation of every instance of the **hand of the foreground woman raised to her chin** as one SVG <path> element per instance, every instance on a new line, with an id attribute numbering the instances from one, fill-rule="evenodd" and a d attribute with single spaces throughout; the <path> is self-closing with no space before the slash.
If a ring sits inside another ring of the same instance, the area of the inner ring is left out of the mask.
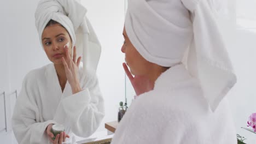
<path id="1" fill-rule="evenodd" d="M 148 79 L 148 77 L 137 76 L 137 75 L 135 75 L 135 77 L 133 77 L 125 63 L 123 63 L 123 67 L 124 67 L 126 75 L 128 76 L 129 80 L 131 81 L 132 87 L 135 90 L 136 95 L 140 95 L 140 94 L 149 92 L 154 88 L 154 83 L 151 82 Z"/>

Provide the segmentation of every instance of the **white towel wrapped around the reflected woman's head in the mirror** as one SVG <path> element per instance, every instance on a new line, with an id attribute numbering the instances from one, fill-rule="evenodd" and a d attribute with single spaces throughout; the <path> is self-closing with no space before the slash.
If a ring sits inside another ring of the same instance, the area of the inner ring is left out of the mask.
<path id="1" fill-rule="evenodd" d="M 73 46 L 77 47 L 77 56 L 82 56 L 85 69 L 97 69 L 101 54 L 100 42 L 86 18 L 87 10 L 75 0 L 42 0 L 39 2 L 35 17 L 39 40 L 50 20 L 59 22 L 71 36 Z M 72 47 L 73 47 L 72 46 Z"/>

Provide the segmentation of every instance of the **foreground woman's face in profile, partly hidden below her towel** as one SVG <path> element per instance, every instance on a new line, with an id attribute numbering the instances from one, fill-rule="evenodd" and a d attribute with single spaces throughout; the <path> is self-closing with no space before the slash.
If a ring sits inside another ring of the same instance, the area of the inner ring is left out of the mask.
<path id="1" fill-rule="evenodd" d="M 127 37 L 125 28 L 123 31 L 124 35 L 124 44 L 121 48 L 121 51 L 125 53 L 125 61 L 130 67 L 131 73 L 133 75 L 146 75 L 148 70 L 152 68 L 152 63 L 144 59 L 141 54 L 135 49 L 132 45 L 130 39 Z"/>

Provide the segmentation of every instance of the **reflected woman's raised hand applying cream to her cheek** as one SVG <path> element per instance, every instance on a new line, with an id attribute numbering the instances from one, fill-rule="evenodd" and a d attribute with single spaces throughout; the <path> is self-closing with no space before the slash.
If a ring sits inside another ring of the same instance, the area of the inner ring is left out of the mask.
<path id="1" fill-rule="evenodd" d="M 65 72 L 67 76 L 67 80 L 72 88 L 72 93 L 78 93 L 81 91 L 81 87 L 79 84 L 78 80 L 78 67 L 81 61 L 82 57 L 79 57 L 77 59 L 77 52 L 76 52 L 76 47 L 74 46 L 74 51 L 73 51 L 73 61 L 71 59 L 71 55 L 68 51 L 68 47 L 65 45 L 64 47 L 66 56 L 62 57 L 62 63 L 65 67 Z"/>

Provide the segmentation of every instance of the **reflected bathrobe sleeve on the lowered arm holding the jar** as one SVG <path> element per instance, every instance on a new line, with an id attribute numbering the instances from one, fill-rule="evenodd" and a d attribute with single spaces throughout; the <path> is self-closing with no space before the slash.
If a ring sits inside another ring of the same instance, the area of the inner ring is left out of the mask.
<path id="1" fill-rule="evenodd" d="M 40 110 L 37 106 L 33 72 L 27 74 L 22 83 L 21 92 L 14 108 L 12 125 L 15 137 L 19 143 L 48 143 L 46 127 L 54 121 L 40 121 Z"/>

